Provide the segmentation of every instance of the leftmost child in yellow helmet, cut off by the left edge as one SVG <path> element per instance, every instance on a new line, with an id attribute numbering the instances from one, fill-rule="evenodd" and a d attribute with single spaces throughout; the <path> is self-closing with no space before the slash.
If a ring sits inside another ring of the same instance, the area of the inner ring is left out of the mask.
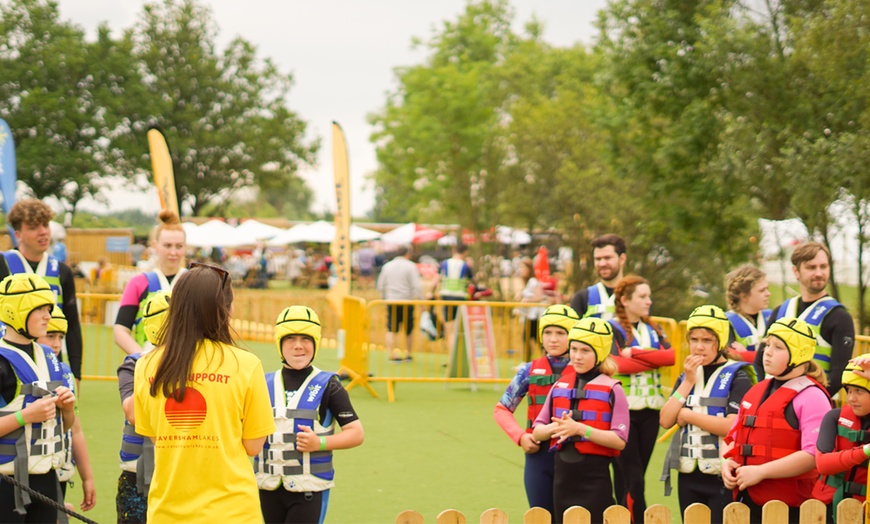
<path id="1" fill-rule="evenodd" d="M 48 283 L 16 274 L 0 282 L 0 473 L 59 500 L 57 475 L 65 428 L 75 422 L 75 395 L 63 386 L 60 363 L 35 343 L 46 334 L 55 305 Z M 59 408 L 59 409 L 58 409 Z M 57 510 L 0 483 L 0 522 L 55 522 Z"/>

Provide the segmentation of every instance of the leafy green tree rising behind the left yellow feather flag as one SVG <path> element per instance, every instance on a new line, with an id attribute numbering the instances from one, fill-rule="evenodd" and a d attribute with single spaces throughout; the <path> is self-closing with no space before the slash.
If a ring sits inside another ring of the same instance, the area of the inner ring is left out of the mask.
<path id="1" fill-rule="evenodd" d="M 306 140 L 306 123 L 287 108 L 292 76 L 259 59 L 242 38 L 218 53 L 216 34 L 208 9 L 195 0 L 145 6 L 132 39 L 151 117 L 128 113 L 130 132 L 151 122 L 164 129 L 179 200 L 195 215 L 207 206 L 222 214 L 230 197 L 251 185 L 285 196 L 296 188 L 292 201 L 307 211 L 310 192 L 298 190 L 298 170 L 313 165 L 320 142 Z"/>

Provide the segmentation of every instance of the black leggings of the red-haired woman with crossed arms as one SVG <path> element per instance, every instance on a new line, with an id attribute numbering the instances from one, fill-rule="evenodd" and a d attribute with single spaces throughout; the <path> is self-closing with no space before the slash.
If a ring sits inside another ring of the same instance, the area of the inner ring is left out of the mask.
<path id="1" fill-rule="evenodd" d="M 629 412 L 629 420 L 628 442 L 616 458 L 613 484 L 617 502 L 628 508 L 632 522 L 640 523 L 646 511 L 644 475 L 659 434 L 659 411 L 633 410 Z"/>

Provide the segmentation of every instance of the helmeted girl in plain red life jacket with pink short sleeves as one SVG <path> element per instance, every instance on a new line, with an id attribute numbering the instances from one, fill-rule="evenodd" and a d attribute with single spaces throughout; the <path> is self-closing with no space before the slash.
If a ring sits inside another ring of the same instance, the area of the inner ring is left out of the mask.
<path id="1" fill-rule="evenodd" d="M 785 502 L 789 521 L 797 522 L 818 478 L 816 439 L 831 399 L 825 374 L 812 360 L 816 338 L 806 322 L 777 320 L 765 343 L 764 371 L 773 378 L 743 396 L 725 437 L 730 446 L 722 480 L 734 490 L 734 500 L 749 506 L 752 522 L 760 522 L 761 507 L 771 500 Z"/>

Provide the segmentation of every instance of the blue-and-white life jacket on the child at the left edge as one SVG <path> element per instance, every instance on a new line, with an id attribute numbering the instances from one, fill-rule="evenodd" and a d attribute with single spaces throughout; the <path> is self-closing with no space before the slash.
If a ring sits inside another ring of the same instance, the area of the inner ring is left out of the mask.
<path id="1" fill-rule="evenodd" d="M 0 356 L 15 373 L 15 397 L 8 404 L 0 397 L 0 416 L 12 415 L 47 396 L 63 385 L 63 371 L 51 349 L 33 344 L 33 358 L 20 349 L 0 340 Z M 25 424 L 0 437 L 0 473 L 12 475 L 24 485 L 31 474 L 38 475 L 57 469 L 63 462 L 63 424 L 61 411 L 52 420 Z M 15 488 L 15 507 L 24 511 L 30 496 Z"/>

